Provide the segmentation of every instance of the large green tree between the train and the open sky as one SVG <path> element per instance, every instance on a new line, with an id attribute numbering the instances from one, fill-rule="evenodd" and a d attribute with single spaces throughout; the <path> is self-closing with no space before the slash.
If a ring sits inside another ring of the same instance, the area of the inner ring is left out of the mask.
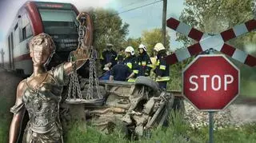
<path id="1" fill-rule="evenodd" d="M 90 15 L 94 20 L 94 47 L 98 52 L 102 53 L 106 43 L 112 43 L 114 50 L 119 50 L 129 33 L 129 25 L 122 22 L 115 10 L 92 9 Z"/>

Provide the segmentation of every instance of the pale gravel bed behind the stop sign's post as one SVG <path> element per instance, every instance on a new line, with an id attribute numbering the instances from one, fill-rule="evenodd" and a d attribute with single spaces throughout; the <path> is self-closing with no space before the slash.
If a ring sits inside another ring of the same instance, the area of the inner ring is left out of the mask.
<path id="1" fill-rule="evenodd" d="M 193 128 L 200 128 L 209 124 L 209 113 L 199 112 L 189 102 L 185 104 L 185 119 Z M 238 128 L 240 125 L 256 122 L 256 105 L 232 104 L 226 109 L 214 113 L 214 129 L 227 126 Z"/>

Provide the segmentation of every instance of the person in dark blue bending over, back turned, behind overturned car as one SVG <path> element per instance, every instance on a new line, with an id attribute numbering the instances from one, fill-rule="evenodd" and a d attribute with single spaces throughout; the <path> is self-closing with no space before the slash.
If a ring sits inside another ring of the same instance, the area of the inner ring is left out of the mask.
<path id="1" fill-rule="evenodd" d="M 122 55 L 118 55 L 118 64 L 110 70 L 110 81 L 126 81 L 134 76 L 134 72 L 123 64 Z"/>

